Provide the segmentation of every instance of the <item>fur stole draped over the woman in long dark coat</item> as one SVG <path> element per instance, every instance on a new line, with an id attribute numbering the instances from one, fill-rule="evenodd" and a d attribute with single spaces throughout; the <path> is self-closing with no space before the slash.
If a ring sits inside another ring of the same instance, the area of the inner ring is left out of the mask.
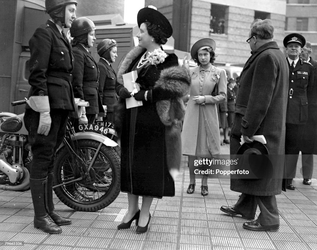
<path id="1" fill-rule="evenodd" d="M 123 84 L 122 75 L 130 64 L 144 49 L 140 47 L 133 48 L 118 66 L 117 82 Z M 184 120 L 185 107 L 181 99 L 189 92 L 191 80 L 189 72 L 180 66 L 173 66 L 161 71 L 159 79 L 156 81 L 154 88 L 171 91 L 177 94 L 177 98 L 162 100 L 156 103 L 156 109 L 161 122 L 165 125 L 165 145 L 166 145 L 166 161 L 168 169 L 179 170 L 181 162 L 181 130 Z M 121 131 L 120 124 L 126 111 L 125 100 L 119 99 L 115 106 L 116 129 Z M 118 119 L 119 118 L 119 119 Z M 118 126 L 119 125 L 119 126 Z"/>

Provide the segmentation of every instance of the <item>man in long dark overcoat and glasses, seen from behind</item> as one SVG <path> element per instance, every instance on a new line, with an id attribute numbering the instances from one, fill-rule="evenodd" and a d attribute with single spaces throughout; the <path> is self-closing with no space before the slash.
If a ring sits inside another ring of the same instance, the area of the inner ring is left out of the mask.
<path id="1" fill-rule="evenodd" d="M 273 174 L 266 179 L 230 179 L 230 189 L 242 193 L 234 206 L 221 211 L 254 219 L 243 228 L 254 231 L 277 231 L 279 213 L 275 195 L 281 193 L 284 166 L 285 120 L 288 91 L 288 68 L 283 53 L 273 41 L 274 27 L 269 19 L 251 24 L 247 42 L 252 50 L 241 72 L 236 97 L 235 117 L 230 133 L 230 155 L 240 147 L 240 138 L 252 143 L 254 135 L 263 135 L 271 159 Z"/>

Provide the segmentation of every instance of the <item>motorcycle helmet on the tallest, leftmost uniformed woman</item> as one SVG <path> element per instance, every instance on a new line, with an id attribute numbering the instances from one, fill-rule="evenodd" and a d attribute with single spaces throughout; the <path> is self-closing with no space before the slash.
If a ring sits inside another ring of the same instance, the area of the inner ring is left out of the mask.
<path id="1" fill-rule="evenodd" d="M 60 21 L 65 26 L 65 6 L 68 4 L 77 5 L 76 0 L 45 0 L 46 12 L 56 22 Z"/>

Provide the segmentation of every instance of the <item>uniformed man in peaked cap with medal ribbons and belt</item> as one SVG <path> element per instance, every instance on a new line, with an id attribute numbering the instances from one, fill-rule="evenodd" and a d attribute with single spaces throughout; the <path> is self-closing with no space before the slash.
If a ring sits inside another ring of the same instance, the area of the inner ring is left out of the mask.
<path id="1" fill-rule="evenodd" d="M 314 95 L 310 95 L 314 87 L 314 67 L 299 58 L 306 44 L 305 37 L 292 33 L 284 38 L 283 44 L 286 48 L 289 69 L 285 135 L 286 189 L 294 190 L 292 181 L 296 175 L 302 142 L 299 134 L 308 120 L 308 105 L 316 103 Z"/>

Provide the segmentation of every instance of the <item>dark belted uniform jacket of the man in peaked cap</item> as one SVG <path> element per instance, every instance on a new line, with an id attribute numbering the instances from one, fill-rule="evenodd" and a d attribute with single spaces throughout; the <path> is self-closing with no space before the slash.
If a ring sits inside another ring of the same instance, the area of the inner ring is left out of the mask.
<path id="1" fill-rule="evenodd" d="M 286 123 L 306 124 L 309 103 L 307 91 L 313 90 L 314 67 L 302 59 L 298 60 L 295 68 L 289 64 L 287 58 L 286 61 L 289 69 Z"/>

